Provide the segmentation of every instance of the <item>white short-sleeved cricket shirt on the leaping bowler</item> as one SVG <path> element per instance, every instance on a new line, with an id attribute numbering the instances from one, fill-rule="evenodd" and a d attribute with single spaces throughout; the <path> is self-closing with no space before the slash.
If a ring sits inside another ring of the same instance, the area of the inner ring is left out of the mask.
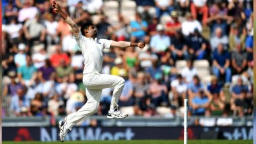
<path id="1" fill-rule="evenodd" d="M 112 40 L 86 38 L 79 32 L 74 37 L 84 56 L 84 74 L 102 71 L 103 49 L 110 48 Z"/>

